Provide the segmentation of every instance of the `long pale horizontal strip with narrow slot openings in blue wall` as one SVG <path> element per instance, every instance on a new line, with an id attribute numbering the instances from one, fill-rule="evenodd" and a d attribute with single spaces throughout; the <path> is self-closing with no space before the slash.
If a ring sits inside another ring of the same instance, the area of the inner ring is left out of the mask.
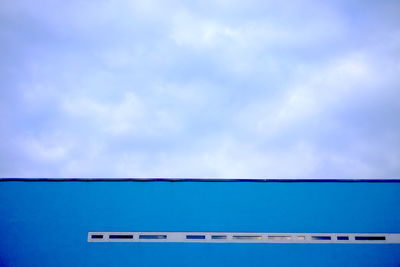
<path id="1" fill-rule="evenodd" d="M 88 242 L 400 243 L 394 233 L 89 232 Z"/>

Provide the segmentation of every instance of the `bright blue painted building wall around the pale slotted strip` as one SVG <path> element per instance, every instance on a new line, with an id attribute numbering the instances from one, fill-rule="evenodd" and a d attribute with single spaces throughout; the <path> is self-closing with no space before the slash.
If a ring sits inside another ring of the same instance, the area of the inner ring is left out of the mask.
<path id="1" fill-rule="evenodd" d="M 88 243 L 89 231 L 400 232 L 400 183 L 0 182 L 1 266 L 400 266 L 397 244 Z"/>

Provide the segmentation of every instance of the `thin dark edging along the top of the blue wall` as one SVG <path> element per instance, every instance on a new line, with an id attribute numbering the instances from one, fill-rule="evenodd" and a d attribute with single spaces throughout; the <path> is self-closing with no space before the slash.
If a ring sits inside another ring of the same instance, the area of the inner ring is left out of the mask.
<path id="1" fill-rule="evenodd" d="M 332 179 L 332 178 L 0 178 L 0 182 L 400 182 L 398 179 Z"/>

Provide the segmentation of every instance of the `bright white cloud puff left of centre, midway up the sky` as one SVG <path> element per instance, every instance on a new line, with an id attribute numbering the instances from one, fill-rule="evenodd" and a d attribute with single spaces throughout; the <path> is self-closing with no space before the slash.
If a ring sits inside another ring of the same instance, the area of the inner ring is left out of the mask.
<path id="1" fill-rule="evenodd" d="M 68 114 L 94 124 L 94 129 L 117 136 L 161 135 L 180 127 L 176 116 L 132 92 L 116 103 L 71 97 L 64 99 L 63 108 Z"/>

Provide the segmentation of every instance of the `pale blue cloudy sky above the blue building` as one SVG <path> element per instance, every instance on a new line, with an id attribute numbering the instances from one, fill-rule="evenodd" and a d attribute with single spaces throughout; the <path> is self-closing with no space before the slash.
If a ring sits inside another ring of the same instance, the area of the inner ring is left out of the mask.
<path id="1" fill-rule="evenodd" d="M 398 14 L 2 0 L 0 177 L 400 178 Z"/>

